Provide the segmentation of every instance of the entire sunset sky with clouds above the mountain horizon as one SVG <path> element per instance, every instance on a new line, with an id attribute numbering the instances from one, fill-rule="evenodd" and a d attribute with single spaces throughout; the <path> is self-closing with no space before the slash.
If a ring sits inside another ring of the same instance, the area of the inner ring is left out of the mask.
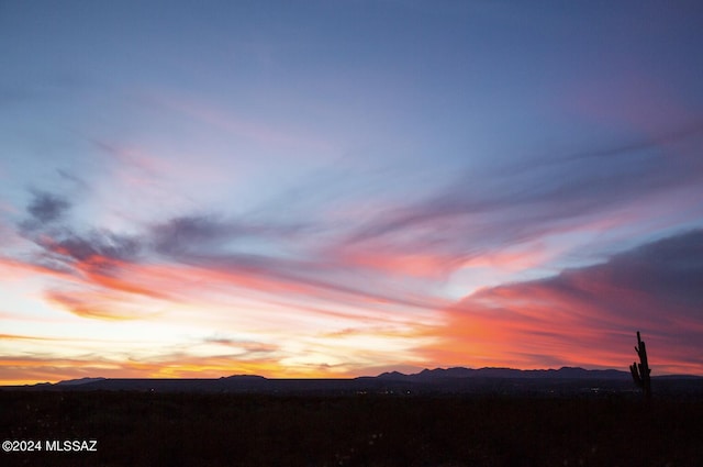
<path id="1" fill-rule="evenodd" d="M 0 2 L 0 385 L 703 375 L 702 23 Z"/>

